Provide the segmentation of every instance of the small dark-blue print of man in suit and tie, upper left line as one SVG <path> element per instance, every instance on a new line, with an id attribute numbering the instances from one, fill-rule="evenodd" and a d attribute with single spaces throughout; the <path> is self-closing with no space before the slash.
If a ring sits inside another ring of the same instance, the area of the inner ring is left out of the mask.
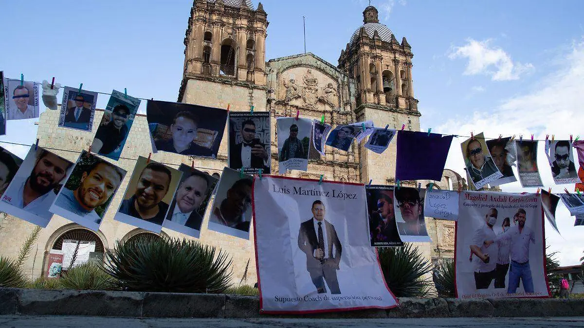
<path id="1" fill-rule="evenodd" d="M 61 102 L 59 127 L 91 132 L 98 93 L 65 86 Z"/>

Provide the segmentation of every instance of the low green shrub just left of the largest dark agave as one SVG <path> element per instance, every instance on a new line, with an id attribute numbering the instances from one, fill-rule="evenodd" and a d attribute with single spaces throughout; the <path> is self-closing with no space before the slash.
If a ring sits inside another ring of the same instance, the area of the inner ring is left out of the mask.
<path id="1" fill-rule="evenodd" d="M 114 287 L 114 279 L 97 264 L 86 262 L 63 273 L 59 285 L 65 289 L 103 291 Z"/>

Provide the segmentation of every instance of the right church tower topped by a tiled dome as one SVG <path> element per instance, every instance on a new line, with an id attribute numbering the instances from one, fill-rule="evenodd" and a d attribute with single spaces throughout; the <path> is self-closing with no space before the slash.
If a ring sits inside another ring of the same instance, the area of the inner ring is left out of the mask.
<path id="1" fill-rule="evenodd" d="M 397 41 L 381 24 L 374 6 L 363 11 L 363 25 L 355 30 L 339 68 L 356 81 L 354 113 L 357 121 L 372 120 L 377 127 L 420 130 L 418 100 L 413 96 L 412 47 L 405 37 Z M 395 142 L 382 154 L 359 146 L 361 180 L 374 184 L 395 182 Z M 408 183 L 406 183 L 408 184 Z M 413 182 L 409 183 L 413 184 Z"/>

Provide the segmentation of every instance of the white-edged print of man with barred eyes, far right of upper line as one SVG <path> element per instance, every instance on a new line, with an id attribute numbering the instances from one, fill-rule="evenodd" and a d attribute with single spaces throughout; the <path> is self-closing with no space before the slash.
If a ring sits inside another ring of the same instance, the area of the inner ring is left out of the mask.
<path id="1" fill-rule="evenodd" d="M 572 142 L 569 140 L 546 141 L 545 151 L 551 166 L 551 176 L 555 184 L 579 183 Z"/>

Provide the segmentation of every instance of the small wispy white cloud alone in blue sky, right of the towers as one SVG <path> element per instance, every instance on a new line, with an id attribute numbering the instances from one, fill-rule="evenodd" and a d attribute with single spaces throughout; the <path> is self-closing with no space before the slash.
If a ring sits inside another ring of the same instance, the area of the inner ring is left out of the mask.
<path id="1" fill-rule="evenodd" d="M 464 75 L 490 75 L 493 81 L 519 79 L 520 75 L 533 69 L 533 65 L 513 62 L 503 49 L 490 46 L 491 40 L 477 41 L 468 39 L 462 47 L 453 47 L 449 58 L 467 58 Z"/>

